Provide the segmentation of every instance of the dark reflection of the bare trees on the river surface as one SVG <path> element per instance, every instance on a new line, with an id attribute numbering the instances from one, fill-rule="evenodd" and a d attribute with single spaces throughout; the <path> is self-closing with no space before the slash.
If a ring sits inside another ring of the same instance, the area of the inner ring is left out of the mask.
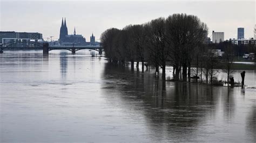
<path id="1" fill-rule="evenodd" d="M 102 77 L 108 82 L 103 92 L 114 96 L 106 100 L 115 103 L 121 99 L 123 108 L 142 113 L 156 140 L 196 141 L 198 134 L 214 134 L 214 124 L 226 126 L 235 120 L 234 96 L 239 92 L 234 88 L 162 82 L 149 72 L 131 72 L 111 65 L 105 66 Z M 237 131 L 242 126 L 227 128 Z"/>

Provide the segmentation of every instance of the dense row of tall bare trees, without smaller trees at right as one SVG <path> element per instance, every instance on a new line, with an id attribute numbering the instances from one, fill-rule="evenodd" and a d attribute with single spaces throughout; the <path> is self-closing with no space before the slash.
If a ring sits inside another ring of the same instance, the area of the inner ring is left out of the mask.
<path id="1" fill-rule="evenodd" d="M 128 25 L 122 30 L 110 28 L 102 33 L 100 40 L 105 56 L 114 64 L 147 62 L 162 69 L 165 80 L 166 62 L 173 66 L 174 80 L 187 80 L 191 76 L 192 61 L 201 53 L 207 38 L 207 26 L 197 16 L 173 14 L 157 18 L 141 25 Z M 144 66 L 143 69 L 144 71 Z M 190 80 L 190 78 L 189 78 Z"/>

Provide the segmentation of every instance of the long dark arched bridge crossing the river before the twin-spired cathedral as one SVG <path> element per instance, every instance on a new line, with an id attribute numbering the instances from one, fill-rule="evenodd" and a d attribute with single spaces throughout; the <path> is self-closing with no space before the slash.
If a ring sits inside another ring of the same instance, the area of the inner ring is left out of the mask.
<path id="1" fill-rule="evenodd" d="M 34 41 L 12 41 L 6 42 L 0 45 L 0 53 L 3 53 L 4 49 L 19 49 L 19 50 L 35 50 L 42 49 L 44 54 L 48 54 L 49 51 L 56 49 L 66 49 L 71 51 L 73 54 L 80 49 L 92 49 L 99 52 L 99 55 L 102 55 L 103 48 L 101 46 L 77 46 L 75 44 L 71 46 L 59 46 L 59 45 L 49 45 L 48 42 L 34 42 Z"/>

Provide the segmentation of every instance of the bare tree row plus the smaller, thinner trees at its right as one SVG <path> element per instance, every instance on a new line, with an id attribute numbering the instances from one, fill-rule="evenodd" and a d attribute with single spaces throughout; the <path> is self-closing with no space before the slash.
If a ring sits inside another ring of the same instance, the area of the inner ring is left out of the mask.
<path id="1" fill-rule="evenodd" d="M 206 83 L 213 83 L 217 68 L 225 66 L 227 81 L 230 78 L 235 51 L 231 42 L 206 44 L 207 26 L 197 16 L 174 14 L 167 18 L 157 18 L 141 25 L 128 25 L 122 30 L 109 28 L 102 33 L 100 40 L 106 58 L 113 64 L 125 65 L 130 62 L 144 62 L 154 66 L 156 72 L 162 69 L 162 79 L 165 80 L 165 67 L 173 66 L 173 80 L 191 80 L 193 73 L 196 80 L 202 75 Z M 249 46 L 250 47 L 250 46 Z M 216 57 L 211 50 L 221 49 L 223 58 Z M 254 49 L 254 48 L 248 48 Z M 191 68 L 193 67 L 193 68 Z M 210 79 L 209 79 L 210 78 Z"/>

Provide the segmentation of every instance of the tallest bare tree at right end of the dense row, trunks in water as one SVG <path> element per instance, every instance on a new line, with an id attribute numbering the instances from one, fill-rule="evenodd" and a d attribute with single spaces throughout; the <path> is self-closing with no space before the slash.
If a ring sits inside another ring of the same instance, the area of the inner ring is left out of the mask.
<path id="1" fill-rule="evenodd" d="M 190 77 L 191 62 L 194 59 L 194 48 L 205 42 L 207 26 L 197 16 L 174 14 L 166 19 L 167 34 L 171 46 L 171 56 L 176 70 L 174 80 L 179 79 L 180 67 L 183 68 L 183 80 Z"/>

